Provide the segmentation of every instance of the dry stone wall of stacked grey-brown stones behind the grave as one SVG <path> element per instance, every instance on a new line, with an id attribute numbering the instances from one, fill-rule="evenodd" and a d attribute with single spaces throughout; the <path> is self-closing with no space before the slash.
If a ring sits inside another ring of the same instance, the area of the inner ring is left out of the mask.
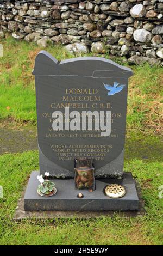
<path id="1" fill-rule="evenodd" d="M 65 45 L 75 53 L 126 56 L 131 63 L 163 60 L 163 0 L 0 0 L 0 37 Z"/>

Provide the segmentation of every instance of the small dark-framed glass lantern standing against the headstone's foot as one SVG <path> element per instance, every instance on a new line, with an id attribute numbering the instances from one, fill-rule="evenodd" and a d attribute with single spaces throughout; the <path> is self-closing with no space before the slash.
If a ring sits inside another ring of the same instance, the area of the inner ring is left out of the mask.
<path id="1" fill-rule="evenodd" d="M 95 168 L 93 159 L 75 159 L 74 189 L 95 190 Z"/>

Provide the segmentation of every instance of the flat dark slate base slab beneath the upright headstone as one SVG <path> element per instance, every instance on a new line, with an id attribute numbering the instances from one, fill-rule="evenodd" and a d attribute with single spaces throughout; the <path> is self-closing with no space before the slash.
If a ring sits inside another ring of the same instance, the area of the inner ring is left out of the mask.
<path id="1" fill-rule="evenodd" d="M 96 190 L 74 191 L 74 180 L 54 180 L 57 193 L 52 197 L 41 197 L 37 194 L 36 176 L 39 172 L 32 172 L 27 190 L 24 196 L 25 211 L 126 211 L 138 210 L 139 199 L 137 196 L 135 182 L 130 172 L 123 174 L 123 179 L 96 179 Z M 122 198 L 113 199 L 105 196 L 103 189 L 108 184 L 120 184 L 126 188 L 126 195 Z M 84 198 L 77 198 L 82 192 Z"/>

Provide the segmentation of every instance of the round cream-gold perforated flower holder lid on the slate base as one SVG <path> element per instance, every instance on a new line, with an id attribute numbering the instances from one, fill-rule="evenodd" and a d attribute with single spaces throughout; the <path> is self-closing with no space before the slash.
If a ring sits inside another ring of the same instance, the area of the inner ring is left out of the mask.
<path id="1" fill-rule="evenodd" d="M 105 187 L 106 196 L 111 198 L 123 197 L 125 193 L 125 188 L 118 184 L 111 184 Z"/>

